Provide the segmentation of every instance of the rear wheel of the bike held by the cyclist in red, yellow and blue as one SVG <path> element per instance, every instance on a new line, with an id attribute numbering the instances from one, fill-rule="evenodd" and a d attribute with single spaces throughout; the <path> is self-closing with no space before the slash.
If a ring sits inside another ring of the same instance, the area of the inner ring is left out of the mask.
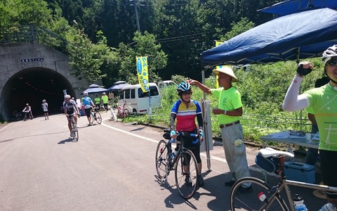
<path id="1" fill-rule="evenodd" d="M 169 155 L 166 141 L 159 141 L 156 150 L 156 169 L 160 179 L 166 179 L 166 176 L 169 174 Z"/>

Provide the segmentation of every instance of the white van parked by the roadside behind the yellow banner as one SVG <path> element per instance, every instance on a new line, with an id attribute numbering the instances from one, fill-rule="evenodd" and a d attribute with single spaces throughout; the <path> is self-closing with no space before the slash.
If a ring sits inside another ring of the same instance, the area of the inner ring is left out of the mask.
<path id="1" fill-rule="evenodd" d="M 151 107 L 161 106 L 161 95 L 157 84 L 150 83 Z M 118 104 L 124 106 L 129 113 L 145 114 L 150 108 L 149 92 L 143 92 L 140 84 L 130 85 L 121 89 Z"/>

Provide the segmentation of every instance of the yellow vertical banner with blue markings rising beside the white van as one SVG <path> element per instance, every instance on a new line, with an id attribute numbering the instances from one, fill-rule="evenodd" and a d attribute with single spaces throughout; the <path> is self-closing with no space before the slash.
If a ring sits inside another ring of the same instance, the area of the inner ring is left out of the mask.
<path id="1" fill-rule="evenodd" d="M 136 56 L 136 65 L 140 88 L 142 88 L 143 92 L 147 92 L 150 89 L 149 75 L 147 74 L 147 57 Z"/>

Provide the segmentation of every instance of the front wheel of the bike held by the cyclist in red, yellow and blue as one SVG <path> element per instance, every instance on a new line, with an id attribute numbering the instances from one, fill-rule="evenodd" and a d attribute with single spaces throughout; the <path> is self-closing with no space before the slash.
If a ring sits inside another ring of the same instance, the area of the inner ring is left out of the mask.
<path id="1" fill-rule="evenodd" d="M 178 155 L 175 167 L 176 186 L 185 199 L 190 199 L 198 188 L 198 164 L 197 159 L 190 150 Z"/>

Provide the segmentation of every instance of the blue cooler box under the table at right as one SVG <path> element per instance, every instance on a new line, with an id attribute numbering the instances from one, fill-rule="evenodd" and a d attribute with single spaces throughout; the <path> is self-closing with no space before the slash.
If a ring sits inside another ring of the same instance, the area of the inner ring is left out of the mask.
<path id="1" fill-rule="evenodd" d="M 315 184 L 315 166 L 302 162 L 284 162 L 286 179 Z"/>

